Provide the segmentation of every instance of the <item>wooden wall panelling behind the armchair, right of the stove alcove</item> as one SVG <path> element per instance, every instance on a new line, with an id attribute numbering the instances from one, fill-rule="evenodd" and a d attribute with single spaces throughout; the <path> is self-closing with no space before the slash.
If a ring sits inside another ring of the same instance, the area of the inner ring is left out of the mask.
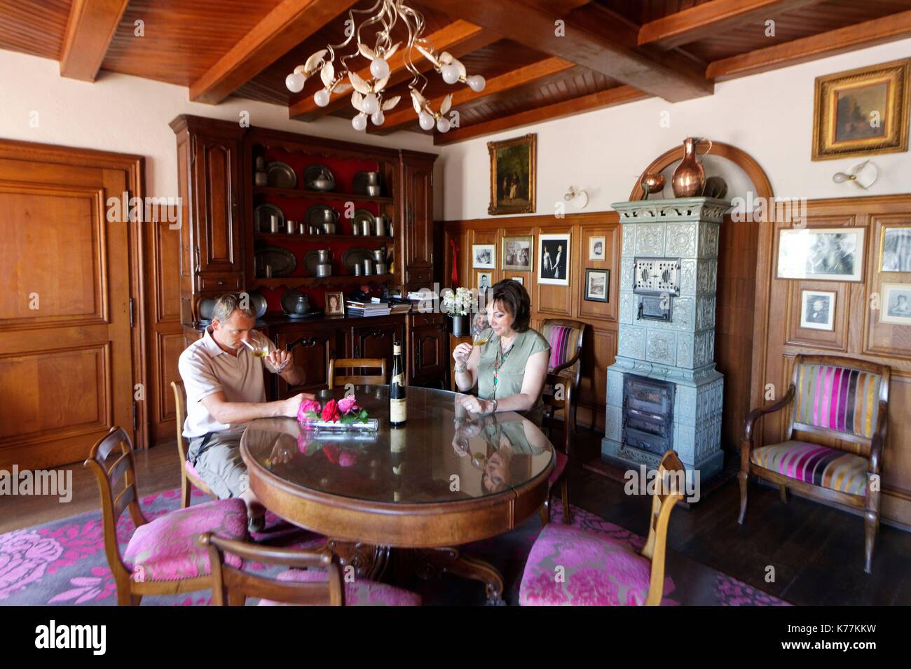
<path id="1" fill-rule="evenodd" d="M 879 312 L 870 308 L 874 292 L 881 289 L 883 282 L 911 282 L 911 273 L 882 272 L 879 270 L 879 244 L 881 228 L 887 223 L 902 224 L 911 221 L 911 195 L 893 195 L 867 198 L 833 198 L 807 202 L 806 221 L 810 227 L 864 227 L 864 280 L 855 282 L 806 281 L 776 279 L 774 277 L 778 229 L 786 221 L 763 223 L 763 238 L 768 239 L 768 253 L 761 253 L 757 278 L 768 277 L 760 283 L 757 305 L 763 310 L 757 312 L 757 323 L 768 323 L 765 331 L 757 327 L 754 360 L 761 360 L 760 368 L 753 368 L 752 406 L 761 406 L 763 388 L 767 383 L 775 384 L 776 396 L 791 383 L 793 357 L 802 352 L 834 353 L 837 351 L 814 347 L 811 340 L 792 340 L 791 317 L 786 309 L 793 309 L 788 303 L 789 291 L 797 294 L 803 285 L 820 287 L 828 284 L 829 290 L 838 291 L 836 312 L 844 312 L 839 318 L 846 319 L 846 350 L 841 355 L 858 360 L 870 360 L 892 368 L 889 388 L 889 417 L 883 464 L 884 522 L 911 526 L 911 443 L 906 439 L 911 430 L 911 345 L 906 344 L 911 326 L 892 326 L 897 331 L 880 329 L 888 325 L 878 323 Z M 762 248 L 762 246 L 761 246 Z M 790 287 L 788 284 L 794 284 Z M 841 300 L 842 291 L 846 299 Z M 891 330 L 891 329 L 890 329 Z M 881 340 L 876 339 L 882 337 Z M 783 421 L 780 417 L 769 417 L 763 425 L 763 441 L 772 443 L 783 437 Z"/>

